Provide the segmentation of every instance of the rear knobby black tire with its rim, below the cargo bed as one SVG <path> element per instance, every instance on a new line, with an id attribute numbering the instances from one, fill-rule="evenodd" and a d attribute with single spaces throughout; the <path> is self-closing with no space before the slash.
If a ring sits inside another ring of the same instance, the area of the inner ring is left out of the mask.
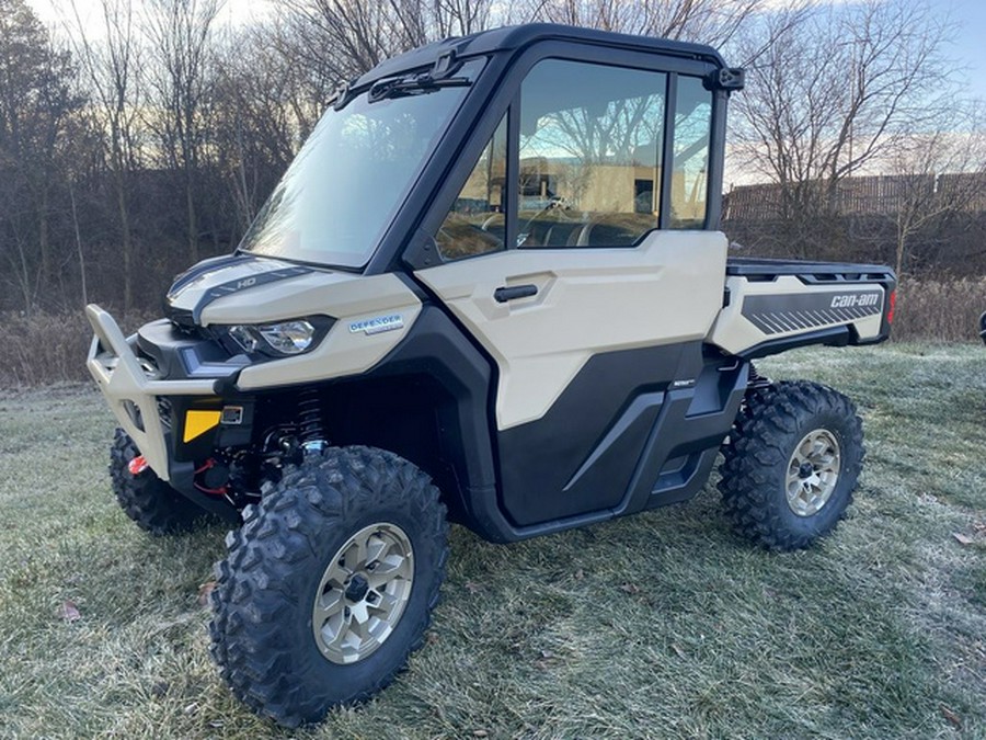
<path id="1" fill-rule="evenodd" d="M 719 490 L 734 528 L 769 549 L 801 549 L 852 501 L 862 422 L 832 388 L 777 383 L 747 396 L 722 452 Z"/>

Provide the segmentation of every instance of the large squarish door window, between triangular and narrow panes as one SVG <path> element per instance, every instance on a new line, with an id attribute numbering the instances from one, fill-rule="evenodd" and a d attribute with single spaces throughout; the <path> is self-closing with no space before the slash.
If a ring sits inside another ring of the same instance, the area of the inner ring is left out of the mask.
<path id="1" fill-rule="evenodd" d="M 517 246 L 629 247 L 657 227 L 667 76 L 546 59 L 520 88 Z"/>

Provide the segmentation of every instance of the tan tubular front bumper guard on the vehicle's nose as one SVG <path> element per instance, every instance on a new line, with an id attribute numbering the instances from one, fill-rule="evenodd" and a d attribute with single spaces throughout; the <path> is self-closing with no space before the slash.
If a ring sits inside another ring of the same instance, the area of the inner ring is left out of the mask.
<path id="1" fill-rule="evenodd" d="M 167 396 L 218 396 L 217 380 L 158 379 L 145 367 L 110 314 L 95 304 L 85 307 L 95 335 L 85 365 L 123 430 L 130 435 L 148 465 L 162 480 L 170 480 L 168 440 L 158 399 Z"/>

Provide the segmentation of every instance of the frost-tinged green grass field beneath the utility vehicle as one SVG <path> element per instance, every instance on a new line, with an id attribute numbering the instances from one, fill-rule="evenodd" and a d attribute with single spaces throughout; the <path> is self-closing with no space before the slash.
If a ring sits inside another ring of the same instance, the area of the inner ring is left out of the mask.
<path id="1" fill-rule="evenodd" d="M 287 732 L 208 658 L 221 528 L 153 539 L 87 387 L 0 394 L 0 737 L 986 737 L 986 348 L 765 361 L 853 397 L 857 502 L 810 551 L 688 504 L 519 545 L 452 530 L 426 647 L 374 702 Z M 958 535 L 958 537 L 956 537 Z"/>

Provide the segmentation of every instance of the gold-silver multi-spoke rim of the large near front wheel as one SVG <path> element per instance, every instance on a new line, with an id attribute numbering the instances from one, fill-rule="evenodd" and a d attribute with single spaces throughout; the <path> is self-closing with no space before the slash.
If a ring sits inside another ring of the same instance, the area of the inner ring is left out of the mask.
<path id="1" fill-rule="evenodd" d="M 414 580 L 411 539 L 395 524 L 370 524 L 349 537 L 322 574 L 311 626 L 333 663 L 363 660 L 397 627 Z"/>

